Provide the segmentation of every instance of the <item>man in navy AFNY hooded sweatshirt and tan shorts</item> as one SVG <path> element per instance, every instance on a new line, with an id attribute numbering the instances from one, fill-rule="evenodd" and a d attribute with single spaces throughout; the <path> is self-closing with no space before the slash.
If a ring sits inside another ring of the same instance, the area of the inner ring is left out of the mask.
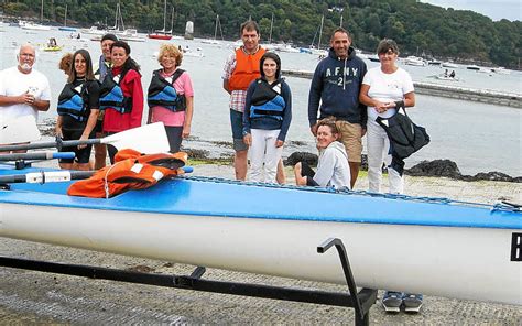
<path id="1" fill-rule="evenodd" d="M 367 67 L 350 45 L 348 31 L 336 29 L 330 39 L 328 56 L 319 62 L 312 79 L 308 121 L 312 133 L 316 135 L 317 119 L 335 118 L 337 129 L 341 132 L 339 141 L 348 153 L 350 184 L 354 188 L 361 163 L 362 135 L 366 133 L 367 108 L 359 102 L 359 90 Z"/>

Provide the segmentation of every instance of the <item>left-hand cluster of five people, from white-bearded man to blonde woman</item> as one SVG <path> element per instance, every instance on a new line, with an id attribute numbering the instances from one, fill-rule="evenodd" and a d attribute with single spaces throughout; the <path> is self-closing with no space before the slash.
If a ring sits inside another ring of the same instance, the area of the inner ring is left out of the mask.
<path id="1" fill-rule="evenodd" d="M 140 66 L 130 56 L 129 44 L 119 41 L 113 34 L 106 34 L 100 45 L 102 54 L 97 64 L 93 64 L 86 50 L 64 55 L 58 64 L 67 80 L 57 99 L 55 133 L 64 141 L 78 140 L 80 143 L 59 149 L 75 153 L 75 159 L 59 160 L 62 169 L 98 170 L 106 165 L 107 154 L 111 164 L 115 163 L 117 149 L 102 144 L 95 146 L 95 162 L 91 163 L 93 145 L 85 141 L 137 128 L 142 123 L 145 99 Z M 157 61 L 162 68 L 154 70 L 146 95 L 146 122 L 163 122 L 173 153 L 180 151 L 182 139 L 191 133 L 194 107 L 191 77 L 178 68 L 182 58 L 177 46 L 161 46 Z M 37 111 L 48 110 L 48 80 L 33 68 L 35 59 L 34 46 L 23 44 L 18 53 L 17 67 L 1 72 L 2 122 L 31 115 L 36 123 Z"/>

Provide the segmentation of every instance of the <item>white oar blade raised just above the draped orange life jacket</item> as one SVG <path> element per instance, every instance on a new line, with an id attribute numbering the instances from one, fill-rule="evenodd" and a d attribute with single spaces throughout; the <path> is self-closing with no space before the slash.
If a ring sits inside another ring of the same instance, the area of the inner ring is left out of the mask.
<path id="1" fill-rule="evenodd" d="M 132 149 L 144 154 L 164 153 L 171 150 L 162 122 L 145 124 L 106 137 L 102 143 L 118 150 Z"/>

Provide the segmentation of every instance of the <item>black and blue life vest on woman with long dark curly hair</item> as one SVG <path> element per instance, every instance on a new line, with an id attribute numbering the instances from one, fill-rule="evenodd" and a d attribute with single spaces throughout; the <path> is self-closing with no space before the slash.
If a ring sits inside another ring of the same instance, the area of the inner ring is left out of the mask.
<path id="1" fill-rule="evenodd" d="M 87 83 L 76 87 L 67 83 L 58 96 L 59 116 L 68 115 L 79 122 L 87 120 L 88 90 Z"/>

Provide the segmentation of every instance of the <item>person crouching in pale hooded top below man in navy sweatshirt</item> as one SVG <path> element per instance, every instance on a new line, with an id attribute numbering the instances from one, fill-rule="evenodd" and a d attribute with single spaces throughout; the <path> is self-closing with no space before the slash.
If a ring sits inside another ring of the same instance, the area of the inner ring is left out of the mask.
<path id="1" fill-rule="evenodd" d="M 323 119 L 317 123 L 317 149 L 319 162 L 314 172 L 305 162 L 294 166 L 295 183 L 298 186 L 350 188 L 350 166 L 345 145 L 337 141 L 340 132 L 331 119 Z"/>

